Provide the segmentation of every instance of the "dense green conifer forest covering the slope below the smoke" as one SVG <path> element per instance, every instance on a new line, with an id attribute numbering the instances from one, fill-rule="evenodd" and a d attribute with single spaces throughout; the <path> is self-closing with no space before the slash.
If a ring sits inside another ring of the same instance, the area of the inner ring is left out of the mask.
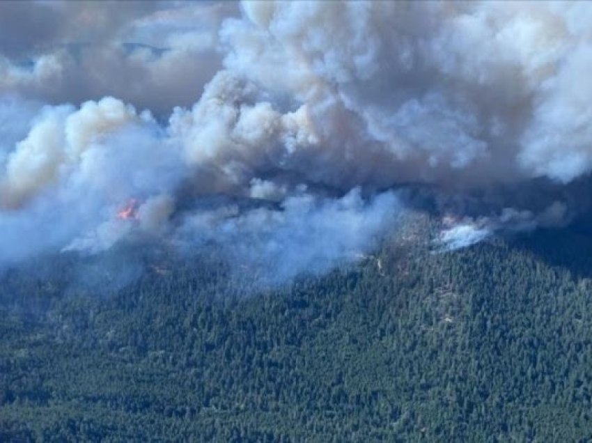
<path id="1" fill-rule="evenodd" d="M 1 277 L 0 441 L 590 441 L 590 247 L 399 238 L 274 288 L 211 257 L 111 286 L 38 258 Z"/>

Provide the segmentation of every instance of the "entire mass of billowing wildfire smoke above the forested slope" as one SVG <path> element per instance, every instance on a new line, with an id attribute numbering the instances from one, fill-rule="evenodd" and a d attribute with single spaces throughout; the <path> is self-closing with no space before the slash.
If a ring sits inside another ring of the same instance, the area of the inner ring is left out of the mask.
<path id="1" fill-rule="evenodd" d="M 145 237 L 281 281 L 375 247 L 403 188 L 444 249 L 587 208 L 589 3 L 1 7 L 0 263 Z"/>

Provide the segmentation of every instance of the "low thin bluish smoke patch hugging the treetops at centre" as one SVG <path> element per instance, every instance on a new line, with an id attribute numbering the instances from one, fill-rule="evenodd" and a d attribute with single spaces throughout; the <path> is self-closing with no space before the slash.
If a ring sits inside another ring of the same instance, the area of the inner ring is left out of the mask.
<path id="1" fill-rule="evenodd" d="M 367 202 L 359 189 L 340 199 L 302 192 L 284 200 L 281 210 L 228 205 L 189 215 L 177 238 L 192 247 L 215 244 L 231 264 L 264 283 L 281 283 L 356 261 L 396 226 L 400 209 L 391 192 Z"/>

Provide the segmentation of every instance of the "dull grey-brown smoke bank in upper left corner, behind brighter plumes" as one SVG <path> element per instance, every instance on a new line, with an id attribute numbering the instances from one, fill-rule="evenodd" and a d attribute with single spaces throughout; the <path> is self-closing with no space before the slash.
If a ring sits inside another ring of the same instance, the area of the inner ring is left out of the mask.
<path id="1" fill-rule="evenodd" d="M 116 96 L 166 116 L 221 68 L 218 29 L 237 3 L 0 3 L 0 93 L 52 104 Z"/>

